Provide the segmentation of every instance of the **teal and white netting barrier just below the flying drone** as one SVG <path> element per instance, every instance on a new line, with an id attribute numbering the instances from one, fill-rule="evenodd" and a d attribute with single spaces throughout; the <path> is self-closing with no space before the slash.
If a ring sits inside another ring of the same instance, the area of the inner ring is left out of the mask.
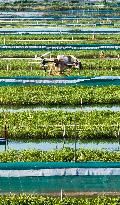
<path id="1" fill-rule="evenodd" d="M 0 86 L 29 86 L 29 85 L 58 85 L 58 86 L 110 86 L 120 85 L 120 76 L 99 77 L 0 77 Z"/>

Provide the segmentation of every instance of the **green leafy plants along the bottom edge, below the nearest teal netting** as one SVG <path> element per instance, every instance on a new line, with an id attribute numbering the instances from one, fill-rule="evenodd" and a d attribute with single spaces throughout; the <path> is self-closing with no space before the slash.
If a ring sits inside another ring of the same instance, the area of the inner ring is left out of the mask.
<path id="1" fill-rule="evenodd" d="M 64 197 L 63 201 L 60 201 L 60 197 L 46 197 L 39 195 L 1 195 L 0 196 L 1 205 L 118 205 L 120 203 L 120 197 L 110 197 L 110 196 L 93 196 L 93 197 Z"/>

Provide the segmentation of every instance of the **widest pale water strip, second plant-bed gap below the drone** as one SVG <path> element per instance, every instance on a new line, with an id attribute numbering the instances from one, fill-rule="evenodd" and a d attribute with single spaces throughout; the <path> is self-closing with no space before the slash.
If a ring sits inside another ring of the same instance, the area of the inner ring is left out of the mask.
<path id="1" fill-rule="evenodd" d="M 41 141 L 15 141 L 9 140 L 7 149 L 24 150 L 24 149 L 37 149 L 37 150 L 56 150 L 63 147 L 75 148 L 75 141 L 71 140 L 41 140 Z M 76 142 L 76 148 L 92 149 L 92 150 L 106 150 L 106 151 L 120 151 L 120 145 L 117 141 L 80 141 Z M 4 146 L 0 146 L 0 151 L 4 150 Z"/>

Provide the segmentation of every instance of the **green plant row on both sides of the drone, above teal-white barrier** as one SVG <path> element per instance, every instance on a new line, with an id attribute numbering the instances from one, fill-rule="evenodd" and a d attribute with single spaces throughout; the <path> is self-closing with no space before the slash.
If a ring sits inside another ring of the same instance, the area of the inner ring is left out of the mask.
<path id="1" fill-rule="evenodd" d="M 120 72 L 120 60 L 108 60 L 108 59 L 81 59 L 80 60 L 84 70 L 115 70 L 118 69 Z M 31 63 L 32 62 L 32 63 Z M 38 63 L 33 63 L 38 62 Z M 31 68 L 32 67 L 32 68 Z M 40 70 L 42 65 L 40 61 L 35 60 L 0 60 L 0 69 L 1 70 L 31 70 L 37 69 Z M 73 69 L 74 71 L 74 69 Z"/>

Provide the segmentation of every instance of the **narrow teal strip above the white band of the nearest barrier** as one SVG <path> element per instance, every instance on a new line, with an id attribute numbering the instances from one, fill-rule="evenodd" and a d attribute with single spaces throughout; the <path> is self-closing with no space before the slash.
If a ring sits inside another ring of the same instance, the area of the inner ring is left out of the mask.
<path id="1" fill-rule="evenodd" d="M 0 170 L 36 170 L 56 168 L 120 168 L 120 162 L 7 162 Z"/>

